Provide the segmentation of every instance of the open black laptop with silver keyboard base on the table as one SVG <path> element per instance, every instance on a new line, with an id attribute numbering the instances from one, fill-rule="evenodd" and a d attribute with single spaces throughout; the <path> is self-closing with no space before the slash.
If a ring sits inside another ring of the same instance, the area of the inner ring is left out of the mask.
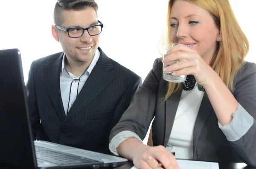
<path id="1" fill-rule="evenodd" d="M 117 167 L 127 159 L 33 141 L 20 51 L 0 50 L 0 163 L 17 169 Z"/>

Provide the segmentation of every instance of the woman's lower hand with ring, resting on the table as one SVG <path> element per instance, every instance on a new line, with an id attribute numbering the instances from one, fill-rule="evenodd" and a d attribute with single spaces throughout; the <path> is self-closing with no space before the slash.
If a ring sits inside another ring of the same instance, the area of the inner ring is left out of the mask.
<path id="1" fill-rule="evenodd" d="M 138 169 L 179 169 L 177 161 L 164 146 L 142 144 L 132 159 Z"/>

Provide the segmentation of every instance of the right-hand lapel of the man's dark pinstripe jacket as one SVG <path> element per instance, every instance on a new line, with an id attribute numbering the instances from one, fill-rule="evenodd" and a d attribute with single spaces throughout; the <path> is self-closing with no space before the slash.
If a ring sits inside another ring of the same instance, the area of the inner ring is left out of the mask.
<path id="1" fill-rule="evenodd" d="M 109 72 L 113 69 L 113 64 L 100 48 L 99 51 L 99 60 L 84 83 L 84 86 L 70 108 L 70 111 L 67 113 L 64 123 L 67 123 L 76 114 L 81 112 L 81 110 L 95 99 L 113 80 L 113 74 Z"/>

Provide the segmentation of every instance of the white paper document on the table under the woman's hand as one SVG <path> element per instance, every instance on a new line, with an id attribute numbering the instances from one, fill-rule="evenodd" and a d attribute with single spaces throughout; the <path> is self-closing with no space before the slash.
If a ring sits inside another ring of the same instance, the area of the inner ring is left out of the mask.
<path id="1" fill-rule="evenodd" d="M 219 169 L 218 163 L 191 161 L 191 160 L 177 160 L 180 169 Z M 137 169 L 133 166 L 131 169 Z"/>

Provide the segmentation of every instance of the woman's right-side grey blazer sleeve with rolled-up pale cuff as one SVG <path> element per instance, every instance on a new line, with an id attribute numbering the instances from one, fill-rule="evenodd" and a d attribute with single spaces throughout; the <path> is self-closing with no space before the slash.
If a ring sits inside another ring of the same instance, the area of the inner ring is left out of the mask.
<path id="1" fill-rule="evenodd" d="M 219 128 L 240 160 L 256 166 L 256 64 L 245 62 L 234 79 L 232 92 L 239 106 L 231 122 Z"/>

